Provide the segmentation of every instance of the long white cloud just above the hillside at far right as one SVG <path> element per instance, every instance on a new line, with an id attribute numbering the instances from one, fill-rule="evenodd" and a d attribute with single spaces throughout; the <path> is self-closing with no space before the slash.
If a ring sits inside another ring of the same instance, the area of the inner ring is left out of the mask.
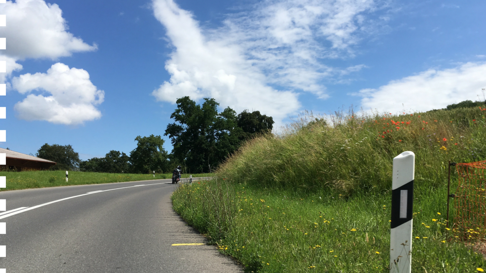
<path id="1" fill-rule="evenodd" d="M 483 88 L 486 88 L 486 63 L 467 63 L 451 69 L 430 69 L 359 93 L 363 96 L 364 110 L 428 111 L 464 100 L 483 100 Z"/>

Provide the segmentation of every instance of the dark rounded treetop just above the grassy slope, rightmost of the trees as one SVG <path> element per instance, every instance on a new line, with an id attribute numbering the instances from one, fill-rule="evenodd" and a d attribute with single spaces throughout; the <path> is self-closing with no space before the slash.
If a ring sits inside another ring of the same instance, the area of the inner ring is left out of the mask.
<path id="1" fill-rule="evenodd" d="M 260 114 L 260 111 L 248 112 L 247 110 L 238 114 L 238 127 L 242 128 L 240 140 L 254 138 L 260 134 L 271 132 L 273 128 L 273 118 Z"/>

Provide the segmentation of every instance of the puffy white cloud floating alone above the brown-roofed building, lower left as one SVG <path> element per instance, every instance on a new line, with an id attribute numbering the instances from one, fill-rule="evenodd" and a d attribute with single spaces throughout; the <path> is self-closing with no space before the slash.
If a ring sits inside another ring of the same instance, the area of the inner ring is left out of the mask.
<path id="1" fill-rule="evenodd" d="M 95 106 L 103 102 L 104 91 L 91 83 L 86 70 L 56 63 L 47 74 L 14 77 L 12 85 L 20 94 L 29 94 L 14 107 L 21 119 L 75 125 L 101 117 Z M 33 91 L 41 94 L 30 94 Z"/>

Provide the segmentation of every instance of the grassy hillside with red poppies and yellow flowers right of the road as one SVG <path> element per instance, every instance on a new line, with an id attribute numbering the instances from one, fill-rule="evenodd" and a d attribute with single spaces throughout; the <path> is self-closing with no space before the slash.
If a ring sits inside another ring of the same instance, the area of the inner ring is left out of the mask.
<path id="1" fill-rule="evenodd" d="M 416 154 L 413 272 L 477 272 L 445 228 L 447 163 L 486 160 L 485 111 L 297 122 L 247 143 L 174 209 L 253 272 L 388 272 L 392 160 Z M 454 192 L 455 188 L 453 188 Z"/>

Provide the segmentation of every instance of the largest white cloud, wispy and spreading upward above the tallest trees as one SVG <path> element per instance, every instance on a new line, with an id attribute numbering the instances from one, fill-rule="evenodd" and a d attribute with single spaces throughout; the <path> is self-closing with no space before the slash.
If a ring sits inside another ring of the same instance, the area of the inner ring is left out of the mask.
<path id="1" fill-rule="evenodd" d="M 322 60 L 353 56 L 352 46 L 366 32 L 361 30 L 364 14 L 377 5 L 374 0 L 266 0 L 251 12 L 228 16 L 221 28 L 204 29 L 174 0 L 152 4 L 175 48 L 165 66 L 171 79 L 152 93 L 157 100 L 214 97 L 224 107 L 258 109 L 276 120 L 300 108 L 298 92 L 326 98 L 325 79 L 365 67 L 339 69 Z"/>

